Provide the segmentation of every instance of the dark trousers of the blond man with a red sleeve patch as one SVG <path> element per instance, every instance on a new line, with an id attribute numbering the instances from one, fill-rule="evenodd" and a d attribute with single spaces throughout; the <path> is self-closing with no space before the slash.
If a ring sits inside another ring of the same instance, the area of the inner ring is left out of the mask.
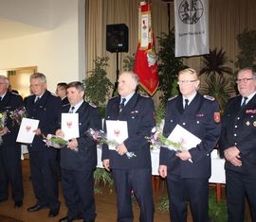
<path id="1" fill-rule="evenodd" d="M 172 222 L 187 221 L 188 202 L 193 222 L 208 222 L 209 179 L 181 179 L 168 175 L 167 184 Z"/>

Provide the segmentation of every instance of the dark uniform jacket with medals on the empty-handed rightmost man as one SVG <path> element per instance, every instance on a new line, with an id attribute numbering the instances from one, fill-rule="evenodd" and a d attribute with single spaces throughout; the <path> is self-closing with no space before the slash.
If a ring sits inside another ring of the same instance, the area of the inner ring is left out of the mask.
<path id="1" fill-rule="evenodd" d="M 229 99 L 223 116 L 220 138 L 222 153 L 232 145 L 240 150 L 242 166 L 225 163 L 225 168 L 244 174 L 256 174 L 256 95 L 241 109 L 242 96 Z"/>

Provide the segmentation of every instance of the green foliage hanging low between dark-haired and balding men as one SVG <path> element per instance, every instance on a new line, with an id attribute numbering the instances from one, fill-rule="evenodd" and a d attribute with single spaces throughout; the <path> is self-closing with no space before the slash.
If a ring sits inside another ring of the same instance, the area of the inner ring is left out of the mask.
<path id="1" fill-rule="evenodd" d="M 96 194 L 101 194 L 101 185 L 108 186 L 112 192 L 114 181 L 111 177 L 111 174 L 102 168 L 96 168 L 94 171 L 94 180 L 95 180 L 95 189 Z"/>

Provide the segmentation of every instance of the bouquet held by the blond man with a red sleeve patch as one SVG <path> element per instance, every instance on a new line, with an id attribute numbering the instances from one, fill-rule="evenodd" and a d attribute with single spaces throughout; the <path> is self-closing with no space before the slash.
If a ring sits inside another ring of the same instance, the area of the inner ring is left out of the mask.
<path id="1" fill-rule="evenodd" d="M 146 137 L 148 142 L 150 142 L 152 145 L 152 148 L 160 148 L 160 147 L 166 147 L 168 149 L 174 150 L 175 152 L 180 152 L 182 149 L 182 141 L 180 142 L 174 142 L 166 138 L 159 130 L 156 128 L 152 128 L 151 130 L 151 136 Z"/>

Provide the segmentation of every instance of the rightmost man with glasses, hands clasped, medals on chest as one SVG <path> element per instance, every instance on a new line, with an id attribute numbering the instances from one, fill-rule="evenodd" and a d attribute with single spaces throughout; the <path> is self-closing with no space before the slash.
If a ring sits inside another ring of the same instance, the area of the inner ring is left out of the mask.
<path id="1" fill-rule="evenodd" d="M 238 72 L 239 95 L 230 98 L 223 116 L 220 147 L 226 159 L 229 222 L 243 222 L 247 196 L 256 221 L 256 72 Z"/>

